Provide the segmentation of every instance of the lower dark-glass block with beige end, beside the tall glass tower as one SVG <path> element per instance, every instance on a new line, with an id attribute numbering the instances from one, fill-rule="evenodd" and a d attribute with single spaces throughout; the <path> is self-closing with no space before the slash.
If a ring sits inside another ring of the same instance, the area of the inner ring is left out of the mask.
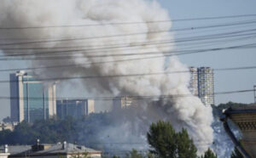
<path id="1" fill-rule="evenodd" d="M 57 100 L 57 116 L 61 119 L 67 116 L 80 118 L 95 112 L 92 99 L 60 99 Z"/>

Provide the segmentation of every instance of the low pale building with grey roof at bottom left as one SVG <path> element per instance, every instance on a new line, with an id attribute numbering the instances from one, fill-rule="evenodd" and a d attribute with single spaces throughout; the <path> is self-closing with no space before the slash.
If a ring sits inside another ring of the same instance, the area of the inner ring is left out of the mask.
<path id="1" fill-rule="evenodd" d="M 34 145 L 15 145 L 9 146 L 9 158 L 73 158 L 83 157 L 102 157 L 102 151 L 86 148 L 76 144 L 34 144 Z"/>

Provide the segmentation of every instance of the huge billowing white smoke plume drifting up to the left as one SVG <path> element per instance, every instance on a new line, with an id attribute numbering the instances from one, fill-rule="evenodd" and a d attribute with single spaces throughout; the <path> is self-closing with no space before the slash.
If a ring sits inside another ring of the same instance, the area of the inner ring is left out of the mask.
<path id="1" fill-rule="evenodd" d="M 3 48 L 31 48 L 28 51 L 16 51 L 17 54 L 37 53 L 34 58 L 42 57 L 42 50 L 35 48 L 49 48 L 47 51 L 69 49 L 87 49 L 83 52 L 64 52 L 61 54 L 47 54 L 48 57 L 59 55 L 66 59 L 33 60 L 32 66 L 49 65 L 77 65 L 58 69 L 35 71 L 42 77 L 63 76 L 109 76 L 139 73 L 154 73 L 163 71 L 188 71 L 177 57 L 166 59 L 164 53 L 172 51 L 173 46 L 163 47 L 160 41 L 172 40 L 172 34 L 166 32 L 172 27 L 171 22 L 147 23 L 147 21 L 169 20 L 168 13 L 155 1 L 143 0 L 2 0 L 0 5 L 0 27 L 27 27 L 45 25 L 87 25 L 79 27 L 48 27 L 17 30 L 0 30 L 1 43 L 20 43 L 0 45 Z M 137 24 L 109 25 L 111 23 L 141 22 Z M 133 34 L 137 32 L 162 31 L 158 33 L 144 33 L 130 36 L 114 35 Z M 73 39 L 84 37 L 98 37 L 80 40 L 58 41 L 58 39 Z M 105 38 L 99 38 L 105 37 Z M 5 39 L 3 41 L 3 39 Z M 34 42 L 55 40 L 55 42 Z M 137 45 L 137 43 L 142 43 Z M 154 43 L 148 45 L 147 43 Z M 136 47 L 126 47 L 132 46 Z M 111 46 L 119 46 L 112 48 Z M 55 49 L 54 49 L 55 48 Z M 56 49 L 59 48 L 59 49 Z M 98 51 L 94 48 L 104 48 Z M 67 49 L 67 48 L 66 48 Z M 143 53 L 156 52 L 145 55 Z M 4 54 L 14 54 L 13 51 L 4 51 Z M 91 55 L 104 54 L 107 57 L 95 58 Z M 109 56 L 109 54 L 141 54 L 138 56 Z M 46 55 L 46 54 L 45 54 Z M 44 56 L 45 56 L 44 55 Z M 70 55 L 76 58 L 70 57 Z M 113 60 L 143 58 L 149 56 L 162 58 L 140 59 L 105 64 L 91 64 Z M 23 56 L 24 57 L 24 56 Z M 26 57 L 24 57 L 26 58 Z M 86 64 L 86 65 L 84 65 Z M 165 114 L 157 115 L 159 119 L 171 121 L 177 130 L 185 127 L 201 153 L 212 144 L 212 110 L 204 106 L 200 99 L 192 96 L 175 97 L 179 94 L 188 94 L 189 73 L 169 74 L 161 76 L 116 77 L 84 80 L 84 89 L 97 96 L 108 94 L 112 96 L 131 95 L 173 95 L 164 103 Z M 155 99 L 154 99 L 155 100 Z M 148 104 L 152 100 L 144 101 Z M 162 105 L 160 105 L 161 108 Z M 148 116 L 150 117 L 150 116 Z M 154 114 L 151 116 L 154 117 Z M 154 120 L 154 119 L 153 119 Z M 139 122 L 139 121 L 138 121 Z M 128 125 L 124 125 L 129 127 Z M 120 129 L 125 128 L 121 127 Z M 113 128 L 116 129 L 116 128 Z M 116 129 L 118 130 L 118 129 Z M 128 133 L 128 132 L 127 132 Z M 129 138 L 129 137 L 127 137 Z"/>

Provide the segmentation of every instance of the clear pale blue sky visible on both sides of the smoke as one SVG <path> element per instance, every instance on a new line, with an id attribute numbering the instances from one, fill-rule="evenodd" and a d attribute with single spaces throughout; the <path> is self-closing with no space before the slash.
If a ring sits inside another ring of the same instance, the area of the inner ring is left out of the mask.
<path id="1" fill-rule="evenodd" d="M 255 0 L 159 0 L 163 8 L 168 10 L 172 20 L 201 18 L 212 16 L 225 16 L 236 14 L 256 14 Z M 255 18 L 254 18 L 255 19 Z M 252 18 L 251 18 L 252 20 Z M 173 28 L 181 27 L 196 27 L 198 25 L 211 25 L 215 22 L 225 22 L 226 20 L 218 21 L 186 21 L 173 22 Z M 227 20 L 228 21 L 228 20 Z M 253 27 L 250 27 L 253 28 Z M 255 26 L 254 26 L 255 28 Z M 196 33 L 196 31 L 195 31 Z M 195 33 L 189 35 L 174 34 L 174 38 L 183 36 L 195 36 Z M 202 32 L 203 34 L 204 32 Z M 205 32 L 209 33 L 209 32 Z M 212 33 L 214 33 L 212 31 Z M 256 42 L 252 39 L 250 42 Z M 240 42 L 236 42 L 240 43 Z M 218 43 L 214 47 L 230 46 L 228 42 Z M 184 45 L 176 46 L 177 49 L 186 48 Z M 241 67 L 256 65 L 256 48 L 254 49 L 237 49 L 237 50 L 222 50 L 218 52 L 207 52 L 207 54 L 190 54 L 179 56 L 183 64 L 188 66 L 209 66 L 214 69 L 227 67 Z M 20 61 L 0 61 L 1 69 L 10 69 L 15 67 L 24 67 L 26 62 Z M 256 71 L 219 71 L 214 73 L 214 88 L 215 92 L 236 91 L 243 89 L 253 89 L 256 85 Z M 0 80 L 9 80 L 9 72 L 0 72 Z M 66 96 L 70 93 L 77 94 L 79 85 L 74 85 L 75 88 L 64 87 L 59 88 L 57 96 Z M 81 97 L 86 97 L 86 94 Z M 0 83 L 0 96 L 9 96 L 9 83 Z M 226 102 L 253 103 L 253 92 L 250 93 L 233 93 L 228 95 L 217 95 L 215 104 Z M 0 99 L 0 120 L 9 116 L 9 100 Z"/>

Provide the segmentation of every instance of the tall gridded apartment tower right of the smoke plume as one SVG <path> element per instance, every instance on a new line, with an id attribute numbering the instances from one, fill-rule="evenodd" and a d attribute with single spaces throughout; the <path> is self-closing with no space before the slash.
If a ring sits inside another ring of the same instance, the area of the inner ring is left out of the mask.
<path id="1" fill-rule="evenodd" d="M 189 90 L 205 105 L 214 104 L 213 70 L 210 67 L 190 67 Z"/>

